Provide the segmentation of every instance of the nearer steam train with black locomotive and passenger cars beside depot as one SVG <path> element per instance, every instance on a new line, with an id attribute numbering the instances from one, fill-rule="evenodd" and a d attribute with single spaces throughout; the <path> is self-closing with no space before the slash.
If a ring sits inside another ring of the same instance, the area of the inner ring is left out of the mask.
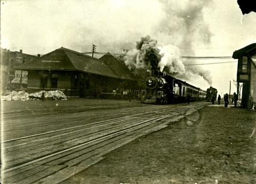
<path id="1" fill-rule="evenodd" d="M 203 101 L 206 91 L 169 74 L 153 70 L 152 75 L 145 81 L 145 94 L 141 96 L 141 102 L 156 104 L 186 102 L 188 94 L 191 101 Z"/>

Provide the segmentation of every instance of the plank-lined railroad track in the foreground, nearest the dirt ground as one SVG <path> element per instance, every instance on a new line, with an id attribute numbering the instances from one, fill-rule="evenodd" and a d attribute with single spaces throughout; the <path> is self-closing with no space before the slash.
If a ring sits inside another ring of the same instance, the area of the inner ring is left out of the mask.
<path id="1" fill-rule="evenodd" d="M 103 155 L 208 103 L 164 108 L 2 141 L 4 183 L 59 183 Z"/>

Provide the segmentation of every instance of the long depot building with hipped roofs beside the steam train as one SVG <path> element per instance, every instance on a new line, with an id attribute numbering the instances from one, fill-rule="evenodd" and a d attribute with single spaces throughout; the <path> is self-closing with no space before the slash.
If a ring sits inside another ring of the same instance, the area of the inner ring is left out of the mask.
<path id="1" fill-rule="evenodd" d="M 27 91 L 62 90 L 70 97 L 100 97 L 103 92 L 133 90 L 133 74 L 110 53 L 100 59 L 59 48 L 15 67 L 27 71 Z"/>

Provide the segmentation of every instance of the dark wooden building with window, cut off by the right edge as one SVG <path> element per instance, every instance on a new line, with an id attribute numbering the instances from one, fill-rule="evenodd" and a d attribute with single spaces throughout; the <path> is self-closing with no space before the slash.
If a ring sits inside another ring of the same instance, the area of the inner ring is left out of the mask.
<path id="1" fill-rule="evenodd" d="M 243 83 L 241 105 L 251 109 L 256 105 L 256 43 L 235 51 L 232 57 L 238 59 L 237 83 Z M 238 90 L 239 86 L 237 94 Z"/>

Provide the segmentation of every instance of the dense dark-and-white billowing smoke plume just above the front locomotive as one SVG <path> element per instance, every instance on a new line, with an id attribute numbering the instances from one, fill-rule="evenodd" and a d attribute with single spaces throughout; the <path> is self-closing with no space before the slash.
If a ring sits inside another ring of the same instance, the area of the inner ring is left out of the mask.
<path id="1" fill-rule="evenodd" d="M 145 77 L 151 69 L 159 69 L 173 77 L 193 82 L 196 78 L 203 78 L 212 85 L 210 73 L 197 67 L 185 66 L 182 63 L 180 50 L 173 45 L 157 45 L 157 41 L 149 36 L 137 41 L 136 49 L 128 51 L 125 64 L 137 76 Z"/>

